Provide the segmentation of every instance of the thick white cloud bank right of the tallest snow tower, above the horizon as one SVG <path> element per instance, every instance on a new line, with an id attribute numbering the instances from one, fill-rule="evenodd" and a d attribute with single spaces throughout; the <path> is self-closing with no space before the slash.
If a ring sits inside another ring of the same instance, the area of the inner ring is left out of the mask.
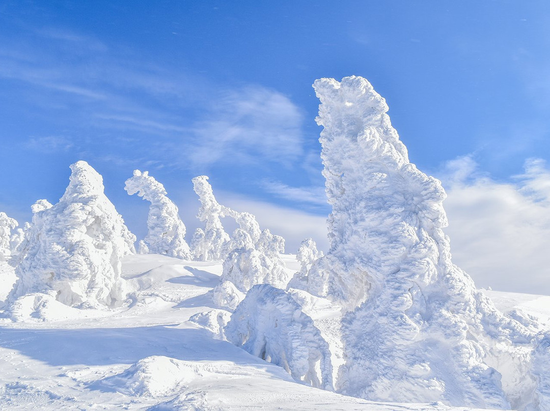
<path id="1" fill-rule="evenodd" d="M 499 291 L 550 293 L 550 170 L 540 159 L 525 162 L 513 183 L 477 171 L 471 156 L 447 164 L 453 262 L 477 286 Z"/>

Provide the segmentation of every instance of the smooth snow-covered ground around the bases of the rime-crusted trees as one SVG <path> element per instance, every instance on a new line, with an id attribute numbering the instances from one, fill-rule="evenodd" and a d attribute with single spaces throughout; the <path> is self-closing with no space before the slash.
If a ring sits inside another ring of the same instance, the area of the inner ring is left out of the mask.
<path id="1" fill-rule="evenodd" d="M 298 269 L 295 256 L 283 259 Z M 122 307 L 79 310 L 54 299 L 36 307 L 29 297 L 1 312 L 0 409 L 471 409 L 368 402 L 295 382 L 219 339 L 216 318 L 224 312 L 210 291 L 221 273 L 221 262 L 128 256 L 123 277 L 134 291 Z M 517 303 L 550 320 L 550 297 L 488 293 L 505 310 Z"/>

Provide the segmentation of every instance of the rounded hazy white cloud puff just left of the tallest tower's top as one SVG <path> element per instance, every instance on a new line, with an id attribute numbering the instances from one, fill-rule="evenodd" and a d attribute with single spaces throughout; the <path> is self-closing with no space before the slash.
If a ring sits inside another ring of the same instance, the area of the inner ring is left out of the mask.
<path id="1" fill-rule="evenodd" d="M 303 115 L 290 99 L 260 86 L 232 90 L 194 125 L 194 163 L 290 164 L 303 153 Z"/>

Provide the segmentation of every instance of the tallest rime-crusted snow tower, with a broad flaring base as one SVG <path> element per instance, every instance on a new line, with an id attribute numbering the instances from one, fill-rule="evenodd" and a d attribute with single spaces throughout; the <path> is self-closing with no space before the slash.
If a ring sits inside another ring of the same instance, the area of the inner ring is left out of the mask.
<path id="1" fill-rule="evenodd" d="M 533 383 L 518 381 L 524 370 L 514 358 L 525 359 L 531 335 L 451 262 L 441 184 L 409 162 L 368 81 L 313 87 L 332 205 L 331 247 L 314 268 L 348 310 L 339 390 L 379 401 L 524 407 Z"/>

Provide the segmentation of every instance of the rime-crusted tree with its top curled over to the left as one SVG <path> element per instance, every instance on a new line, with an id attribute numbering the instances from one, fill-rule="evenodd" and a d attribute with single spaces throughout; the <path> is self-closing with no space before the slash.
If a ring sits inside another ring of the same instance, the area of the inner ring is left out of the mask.
<path id="1" fill-rule="evenodd" d="M 151 203 L 147 217 L 147 235 L 140 241 L 140 254 L 152 253 L 190 259 L 191 252 L 185 241 L 185 224 L 179 218 L 178 207 L 166 195 L 164 186 L 149 172 L 134 170 L 134 176 L 126 180 L 124 189 Z"/>

